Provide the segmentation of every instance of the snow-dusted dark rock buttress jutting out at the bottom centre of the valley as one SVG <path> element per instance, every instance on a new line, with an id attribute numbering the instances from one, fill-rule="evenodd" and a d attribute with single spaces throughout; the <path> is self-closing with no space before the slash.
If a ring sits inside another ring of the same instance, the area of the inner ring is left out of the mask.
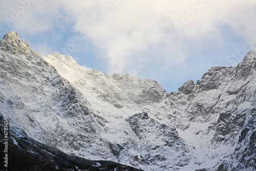
<path id="1" fill-rule="evenodd" d="M 166 170 L 175 170 L 189 163 L 187 148 L 174 127 L 155 121 L 147 113 L 133 115 L 128 120 L 140 139 L 138 151 L 142 153 L 135 156 L 135 160 L 140 158 L 141 164 Z"/>

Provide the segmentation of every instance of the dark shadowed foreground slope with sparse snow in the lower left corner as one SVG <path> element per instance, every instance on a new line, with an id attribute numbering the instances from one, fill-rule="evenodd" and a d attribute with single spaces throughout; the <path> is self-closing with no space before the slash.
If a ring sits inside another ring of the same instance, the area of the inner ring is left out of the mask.
<path id="1" fill-rule="evenodd" d="M 4 129 L 4 118 L 0 113 L 0 129 Z M 80 158 L 77 156 L 67 155 L 54 147 L 42 144 L 26 135 L 15 123 L 9 124 L 8 127 L 8 170 L 127 170 L 137 171 L 138 169 L 121 165 L 112 161 L 93 161 Z M 5 135 L 0 132 L 0 147 L 5 149 Z M 4 158 L 6 153 L 0 152 Z M 7 170 L 1 164 L 1 170 Z"/>

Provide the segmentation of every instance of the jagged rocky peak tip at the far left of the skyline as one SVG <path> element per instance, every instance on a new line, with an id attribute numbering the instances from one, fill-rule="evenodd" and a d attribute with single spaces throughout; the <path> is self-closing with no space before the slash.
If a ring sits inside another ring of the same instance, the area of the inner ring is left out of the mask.
<path id="1" fill-rule="evenodd" d="M 13 54 L 28 54 L 33 52 L 26 41 L 19 39 L 15 31 L 7 32 L 0 42 L 0 49 Z"/>

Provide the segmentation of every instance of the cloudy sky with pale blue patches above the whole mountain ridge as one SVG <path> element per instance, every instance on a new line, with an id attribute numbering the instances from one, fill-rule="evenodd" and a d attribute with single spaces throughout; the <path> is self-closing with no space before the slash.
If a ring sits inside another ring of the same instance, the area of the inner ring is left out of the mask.
<path id="1" fill-rule="evenodd" d="M 256 1 L 0 0 L 0 32 L 42 55 L 103 73 L 154 79 L 168 92 L 256 45 Z"/>

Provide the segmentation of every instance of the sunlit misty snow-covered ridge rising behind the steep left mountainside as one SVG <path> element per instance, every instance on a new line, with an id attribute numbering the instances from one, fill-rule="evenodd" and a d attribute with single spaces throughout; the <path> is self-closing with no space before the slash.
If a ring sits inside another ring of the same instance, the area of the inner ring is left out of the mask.
<path id="1" fill-rule="evenodd" d="M 111 76 L 95 69 L 81 67 L 71 56 L 59 53 L 45 56 L 44 59 L 51 63 L 62 77 L 87 94 L 88 100 L 95 104 L 99 112 L 109 110 L 109 106 L 119 109 L 127 107 L 141 112 L 141 107 L 134 108 L 134 104 L 158 103 L 163 97 L 168 96 L 154 80 L 141 80 L 129 74 Z"/>

